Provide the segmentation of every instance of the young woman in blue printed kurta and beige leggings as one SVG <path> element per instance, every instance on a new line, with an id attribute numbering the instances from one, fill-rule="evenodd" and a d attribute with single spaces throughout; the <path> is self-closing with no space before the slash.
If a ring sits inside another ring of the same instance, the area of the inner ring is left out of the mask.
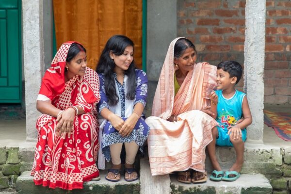
<path id="1" fill-rule="evenodd" d="M 111 37 L 98 62 L 97 73 L 100 80 L 99 113 L 104 117 L 102 153 L 107 161 L 112 160 L 107 180 L 120 180 L 120 153 L 124 144 L 126 150 L 125 180 L 138 178 L 133 163 L 138 149 L 143 152 L 143 144 L 149 127 L 144 121 L 144 107 L 147 97 L 147 76 L 135 69 L 133 62 L 133 42 L 126 36 Z"/>

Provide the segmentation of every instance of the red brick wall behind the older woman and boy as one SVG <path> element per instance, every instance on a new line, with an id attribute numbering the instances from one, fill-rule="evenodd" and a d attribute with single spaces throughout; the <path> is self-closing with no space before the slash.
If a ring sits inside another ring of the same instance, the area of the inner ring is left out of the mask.
<path id="1" fill-rule="evenodd" d="M 245 0 L 177 0 L 178 36 L 193 41 L 198 62 L 243 65 L 244 9 Z M 291 104 L 290 0 L 266 0 L 264 83 L 265 103 Z"/>

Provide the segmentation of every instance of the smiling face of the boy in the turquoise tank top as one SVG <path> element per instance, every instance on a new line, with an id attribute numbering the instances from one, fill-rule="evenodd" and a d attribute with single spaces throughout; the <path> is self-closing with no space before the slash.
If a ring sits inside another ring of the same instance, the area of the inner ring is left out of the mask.
<path id="1" fill-rule="evenodd" d="M 218 90 L 226 90 L 228 88 L 232 88 L 234 87 L 236 81 L 236 77 L 230 78 L 228 72 L 224 71 L 223 69 L 217 69 L 216 83 Z"/>

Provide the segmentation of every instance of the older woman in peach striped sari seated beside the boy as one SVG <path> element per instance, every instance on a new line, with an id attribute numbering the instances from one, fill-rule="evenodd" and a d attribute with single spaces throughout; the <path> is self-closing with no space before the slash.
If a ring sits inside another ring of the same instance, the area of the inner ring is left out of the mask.
<path id="1" fill-rule="evenodd" d="M 178 172 L 178 181 L 206 182 L 205 147 L 217 123 L 209 115 L 216 66 L 195 64 L 197 53 L 186 38 L 169 46 L 153 101 L 147 139 L 151 174 Z"/>

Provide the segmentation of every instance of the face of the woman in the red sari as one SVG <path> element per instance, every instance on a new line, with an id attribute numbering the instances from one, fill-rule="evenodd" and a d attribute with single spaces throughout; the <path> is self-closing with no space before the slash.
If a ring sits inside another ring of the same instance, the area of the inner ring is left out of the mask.
<path id="1" fill-rule="evenodd" d="M 80 51 L 70 62 L 66 62 L 67 77 L 70 79 L 75 75 L 83 76 L 86 72 L 87 56 Z"/>

